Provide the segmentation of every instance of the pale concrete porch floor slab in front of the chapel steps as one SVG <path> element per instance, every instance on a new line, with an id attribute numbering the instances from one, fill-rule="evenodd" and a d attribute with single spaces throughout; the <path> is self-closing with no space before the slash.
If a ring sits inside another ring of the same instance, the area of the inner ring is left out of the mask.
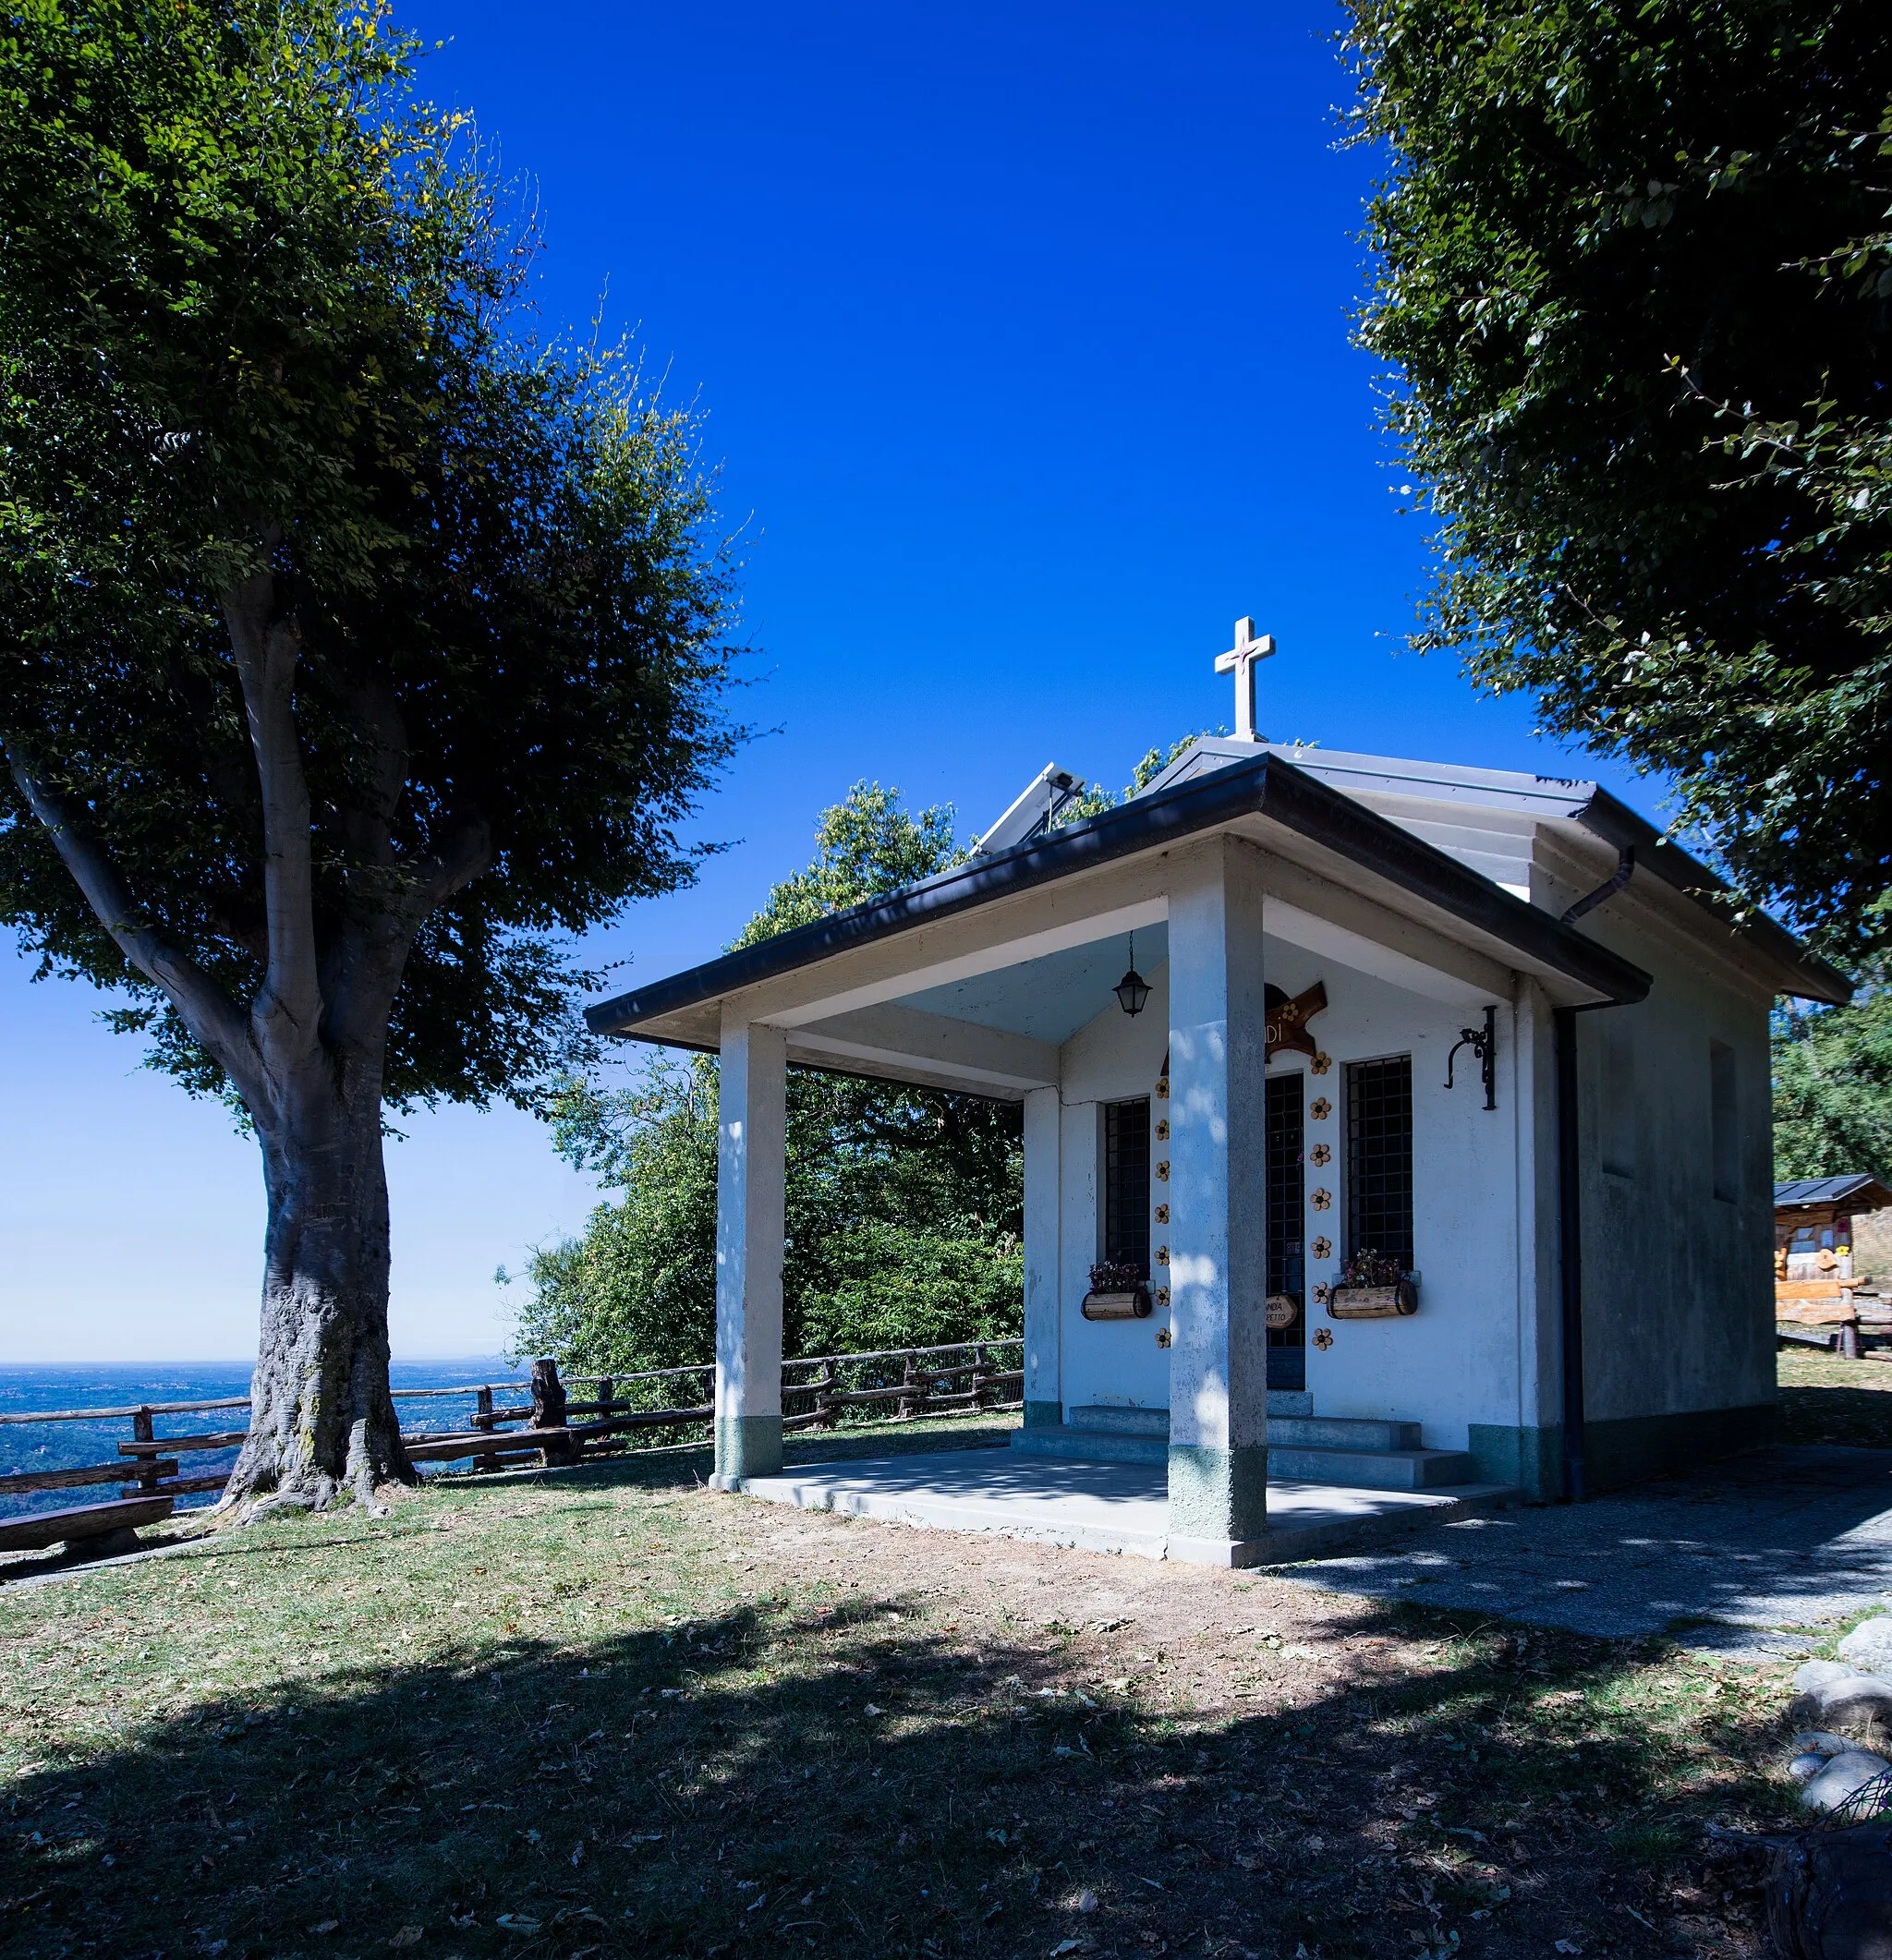
<path id="1" fill-rule="evenodd" d="M 988 1531 L 1080 1552 L 1176 1556 L 1167 1478 L 1151 1464 L 1059 1462 L 998 1448 L 871 1456 L 745 1478 L 743 1495 L 933 1531 Z M 1331 1556 L 1406 1531 L 1502 1511 L 1518 1495 L 1504 1484 L 1416 1492 L 1270 1478 L 1269 1529 L 1233 1546 L 1229 1564 Z"/>

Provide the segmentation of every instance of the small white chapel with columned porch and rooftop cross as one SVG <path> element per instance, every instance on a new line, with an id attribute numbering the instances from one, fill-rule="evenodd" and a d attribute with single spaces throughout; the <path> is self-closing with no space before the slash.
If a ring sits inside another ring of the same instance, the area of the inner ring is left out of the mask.
<path id="1" fill-rule="evenodd" d="M 782 1462 L 784 1068 L 1023 1103 L 1016 1454 L 1143 1462 L 1167 1554 L 1269 1484 L 1586 1492 L 1765 1441 L 1768 1013 L 1851 988 L 1592 782 L 1235 735 L 590 1011 L 722 1056 L 718 1484 Z"/>

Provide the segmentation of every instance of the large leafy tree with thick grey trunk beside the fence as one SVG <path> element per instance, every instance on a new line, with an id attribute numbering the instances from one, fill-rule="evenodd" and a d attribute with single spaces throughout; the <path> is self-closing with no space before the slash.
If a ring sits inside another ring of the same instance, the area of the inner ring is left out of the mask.
<path id="1" fill-rule="evenodd" d="M 0 22 L 0 917 L 261 1145 L 231 1499 L 412 1476 L 384 1105 L 567 1060 L 571 935 L 690 876 L 731 743 L 692 425 L 525 337 L 414 57 L 325 0 Z"/>

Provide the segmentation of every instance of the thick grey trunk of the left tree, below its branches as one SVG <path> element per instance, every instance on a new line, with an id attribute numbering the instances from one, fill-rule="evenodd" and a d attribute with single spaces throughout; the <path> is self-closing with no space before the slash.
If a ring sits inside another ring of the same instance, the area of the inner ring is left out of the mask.
<path id="1" fill-rule="evenodd" d="M 249 1441 L 222 1507 L 335 1499 L 418 1482 L 388 1396 L 388 1180 L 380 1080 L 320 1051 L 257 1131 L 269 1192 L 263 1339 Z"/>

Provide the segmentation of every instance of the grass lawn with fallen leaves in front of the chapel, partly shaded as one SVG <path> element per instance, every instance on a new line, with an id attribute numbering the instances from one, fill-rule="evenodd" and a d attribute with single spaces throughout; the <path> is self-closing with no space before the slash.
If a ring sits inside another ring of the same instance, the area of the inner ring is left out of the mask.
<path id="1" fill-rule="evenodd" d="M 1784 1670 L 704 1470 L 435 1482 L 0 1590 L 4 1950 L 1763 1948 L 1702 1827 L 1792 1815 Z"/>

